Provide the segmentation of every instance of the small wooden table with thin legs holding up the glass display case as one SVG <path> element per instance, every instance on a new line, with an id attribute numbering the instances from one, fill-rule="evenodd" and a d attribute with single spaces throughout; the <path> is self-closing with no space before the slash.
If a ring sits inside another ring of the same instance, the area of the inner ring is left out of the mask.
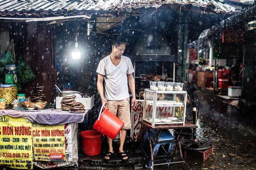
<path id="1" fill-rule="evenodd" d="M 146 128 L 148 129 L 148 140 L 149 140 L 149 146 L 150 146 L 150 159 L 151 159 L 151 163 L 152 163 L 152 165 L 151 165 L 151 169 L 152 170 L 154 169 L 155 165 L 165 165 L 165 164 L 174 164 L 174 163 L 185 163 L 187 165 L 187 163 L 185 162 L 185 160 L 182 157 L 182 151 L 181 151 L 181 145 L 180 145 L 180 138 L 181 138 L 181 135 L 182 135 L 181 132 L 179 133 L 177 139 L 172 141 L 172 142 L 174 142 L 176 144 L 175 147 L 174 147 L 174 151 L 173 151 L 174 154 L 166 155 L 165 156 L 165 158 L 168 158 L 168 157 L 171 158 L 170 162 L 161 163 L 161 164 L 154 164 L 154 158 L 158 158 L 158 157 L 153 157 L 153 148 L 154 148 L 156 142 L 158 142 L 159 136 L 160 136 L 162 130 L 168 130 L 168 129 L 193 129 L 193 128 L 197 128 L 198 127 L 197 125 L 185 122 L 185 125 L 182 125 L 182 124 L 166 124 L 166 125 L 162 125 L 161 124 L 161 125 L 152 126 L 150 123 L 144 122 L 144 121 L 139 121 L 139 124 L 146 126 Z M 151 143 L 151 140 L 150 140 L 150 138 L 151 138 L 150 137 L 150 129 L 159 130 L 159 134 L 156 135 L 153 143 Z M 175 152 L 176 152 L 176 149 L 177 149 L 178 146 L 179 146 L 180 156 L 181 156 L 182 161 L 173 162 L 174 155 L 175 155 Z M 163 158 L 163 156 L 161 156 L 161 158 Z M 187 165 L 187 167 L 190 169 L 190 167 L 188 165 Z"/>

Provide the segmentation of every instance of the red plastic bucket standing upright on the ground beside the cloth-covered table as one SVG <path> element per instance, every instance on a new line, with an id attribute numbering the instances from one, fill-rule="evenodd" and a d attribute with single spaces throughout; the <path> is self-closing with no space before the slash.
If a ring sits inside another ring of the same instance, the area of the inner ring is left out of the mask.
<path id="1" fill-rule="evenodd" d="M 102 134 L 96 130 L 85 130 L 80 132 L 82 152 L 87 156 L 96 156 L 101 151 Z"/>

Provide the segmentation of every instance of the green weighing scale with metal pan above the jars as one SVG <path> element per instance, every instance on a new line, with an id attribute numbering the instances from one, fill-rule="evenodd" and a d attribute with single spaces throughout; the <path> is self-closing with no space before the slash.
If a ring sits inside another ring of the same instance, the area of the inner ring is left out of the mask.
<path id="1" fill-rule="evenodd" d="M 17 83 L 17 75 L 16 72 L 18 67 L 16 64 L 5 65 L 5 83 L 6 84 L 16 84 Z"/>

